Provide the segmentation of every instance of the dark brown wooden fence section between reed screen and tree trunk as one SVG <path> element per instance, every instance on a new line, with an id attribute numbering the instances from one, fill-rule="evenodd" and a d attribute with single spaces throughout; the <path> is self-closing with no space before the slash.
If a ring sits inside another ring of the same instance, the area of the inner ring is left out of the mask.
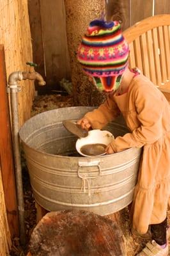
<path id="1" fill-rule="evenodd" d="M 45 74 L 47 86 L 57 86 L 70 77 L 63 0 L 28 0 L 33 60 L 38 72 Z M 42 88 L 43 89 L 43 88 Z"/>

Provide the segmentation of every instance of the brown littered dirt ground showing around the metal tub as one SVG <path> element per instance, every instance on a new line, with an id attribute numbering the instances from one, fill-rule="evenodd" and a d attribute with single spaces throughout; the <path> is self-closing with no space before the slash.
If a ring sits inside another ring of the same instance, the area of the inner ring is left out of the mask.
<path id="1" fill-rule="evenodd" d="M 73 106 L 73 99 L 67 95 L 41 95 L 35 98 L 31 115 L 37 115 L 43 111 L 48 111 L 56 108 L 65 108 Z M 22 157 L 22 175 L 23 175 L 23 187 L 24 187 L 24 206 L 25 206 L 25 219 L 26 219 L 26 246 L 20 246 L 19 237 L 15 237 L 12 243 L 11 256 L 24 256 L 27 254 L 29 238 L 33 232 L 33 228 L 36 225 L 36 209 L 35 199 L 29 183 L 29 175 L 27 172 L 26 162 Z M 132 236 L 129 230 L 129 214 L 128 207 L 120 211 L 121 225 L 123 234 L 125 236 L 127 246 L 127 256 L 134 256 L 137 252 L 143 248 L 148 239 Z M 170 211 L 167 212 L 168 220 L 170 223 Z M 169 253 L 170 255 L 170 253 Z M 81 255 L 80 255 L 81 256 Z M 95 256 L 95 255 L 94 255 Z M 119 255 L 118 255 L 119 256 Z"/>

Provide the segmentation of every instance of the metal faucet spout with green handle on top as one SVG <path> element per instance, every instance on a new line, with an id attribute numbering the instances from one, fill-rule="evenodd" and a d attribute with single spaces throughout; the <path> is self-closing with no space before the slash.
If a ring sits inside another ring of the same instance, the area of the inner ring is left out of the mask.
<path id="1" fill-rule="evenodd" d="M 22 72 L 23 79 L 29 79 L 29 80 L 38 80 L 38 85 L 43 86 L 45 85 L 45 81 L 43 80 L 43 77 L 35 71 L 35 67 L 37 66 L 36 63 L 33 62 L 27 62 L 27 65 L 30 66 L 29 72 Z"/>

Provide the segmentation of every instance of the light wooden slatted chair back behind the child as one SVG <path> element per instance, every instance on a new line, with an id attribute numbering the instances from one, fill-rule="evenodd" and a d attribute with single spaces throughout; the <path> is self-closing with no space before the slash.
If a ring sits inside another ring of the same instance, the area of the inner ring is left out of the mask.
<path id="1" fill-rule="evenodd" d="M 141 20 L 123 35 L 130 45 L 130 67 L 138 67 L 170 101 L 170 15 Z"/>

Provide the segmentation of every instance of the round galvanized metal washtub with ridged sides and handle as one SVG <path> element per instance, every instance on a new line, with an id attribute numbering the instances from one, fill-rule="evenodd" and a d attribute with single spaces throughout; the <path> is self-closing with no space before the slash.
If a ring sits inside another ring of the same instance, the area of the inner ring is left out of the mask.
<path id="1" fill-rule="evenodd" d="M 19 131 L 35 200 L 49 211 L 82 209 L 107 215 L 132 202 L 141 149 L 76 156 L 77 137 L 63 127 L 63 120 L 75 121 L 92 109 L 46 111 L 27 120 Z M 104 129 L 115 137 L 128 132 L 121 120 Z"/>

